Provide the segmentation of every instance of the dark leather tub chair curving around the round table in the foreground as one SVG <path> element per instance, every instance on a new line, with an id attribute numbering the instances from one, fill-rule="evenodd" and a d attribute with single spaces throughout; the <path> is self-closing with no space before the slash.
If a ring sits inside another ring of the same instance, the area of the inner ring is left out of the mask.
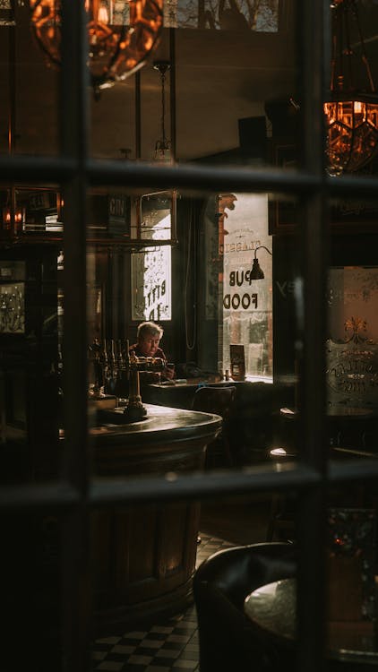
<path id="1" fill-rule="evenodd" d="M 283 542 L 227 548 L 198 567 L 193 596 L 201 672 L 279 669 L 282 652 L 261 638 L 245 616 L 244 602 L 259 586 L 295 574 L 296 548 Z"/>

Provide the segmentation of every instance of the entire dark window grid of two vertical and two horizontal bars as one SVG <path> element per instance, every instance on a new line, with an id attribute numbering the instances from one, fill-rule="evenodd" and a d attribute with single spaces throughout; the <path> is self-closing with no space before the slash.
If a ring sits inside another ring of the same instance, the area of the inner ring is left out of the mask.
<path id="1" fill-rule="evenodd" d="M 322 97 L 323 64 L 328 54 L 322 36 L 328 30 L 328 2 L 299 3 L 301 26 L 300 54 L 303 125 L 302 169 L 288 175 L 278 169 L 176 168 L 101 162 L 88 152 L 88 97 L 86 71 L 85 15 L 83 3 L 62 0 L 64 10 L 61 82 L 61 155 L 56 158 L 0 157 L 0 176 L 7 180 L 54 180 L 63 186 L 64 202 L 64 386 L 65 459 L 62 480 L 39 487 L 6 487 L 0 494 L 2 511 L 54 511 L 64 521 L 63 557 L 63 633 L 65 665 L 70 672 L 90 668 L 90 586 L 82 576 L 90 567 L 89 516 L 96 507 L 115 503 L 143 504 L 176 499 L 201 499 L 216 495 L 242 495 L 275 490 L 294 490 L 300 502 L 299 565 L 299 647 L 298 669 L 307 672 L 322 668 L 324 651 L 324 575 L 322 541 L 325 530 L 327 483 L 373 479 L 378 468 L 366 461 L 356 470 L 353 465 L 335 466 L 326 474 L 324 439 L 324 353 L 325 333 L 323 288 L 326 275 L 327 202 L 332 195 L 369 196 L 376 190 L 376 179 L 344 177 L 339 181 L 324 174 Z M 182 476 L 174 482 L 162 478 L 120 480 L 114 483 L 90 480 L 90 446 L 87 421 L 86 381 L 86 230 L 85 201 L 92 185 L 129 185 L 168 189 L 172 185 L 217 193 L 229 189 L 240 192 L 279 192 L 296 195 L 301 202 L 302 251 L 305 259 L 305 311 L 303 341 L 303 444 L 304 461 L 295 470 L 277 474 L 273 469 L 237 471 L 225 475 Z M 313 398 L 314 389 L 318 390 Z M 308 524 L 312 521 L 312 524 Z M 89 583 L 89 582 L 88 582 Z M 306 636 L 305 636 L 306 634 Z"/>

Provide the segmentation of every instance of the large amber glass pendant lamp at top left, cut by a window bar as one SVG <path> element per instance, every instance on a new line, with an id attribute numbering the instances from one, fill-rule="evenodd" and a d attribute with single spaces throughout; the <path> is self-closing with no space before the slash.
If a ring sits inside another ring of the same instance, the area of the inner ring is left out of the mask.
<path id="1" fill-rule="evenodd" d="M 163 26 L 163 0 L 82 0 L 88 14 L 90 81 L 113 86 L 144 65 Z M 30 0 L 31 25 L 50 65 L 60 66 L 61 1 Z"/>

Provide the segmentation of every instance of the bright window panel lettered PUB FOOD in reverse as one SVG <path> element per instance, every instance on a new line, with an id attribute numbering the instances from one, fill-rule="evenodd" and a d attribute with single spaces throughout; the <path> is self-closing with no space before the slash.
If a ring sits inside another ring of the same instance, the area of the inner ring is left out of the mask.
<path id="1" fill-rule="evenodd" d="M 271 250 L 267 195 L 220 194 L 223 368 L 230 368 L 230 344 L 244 345 L 246 375 L 272 375 L 272 258 L 264 249 L 258 251 L 264 279 L 252 280 L 253 254 L 259 246 Z"/>

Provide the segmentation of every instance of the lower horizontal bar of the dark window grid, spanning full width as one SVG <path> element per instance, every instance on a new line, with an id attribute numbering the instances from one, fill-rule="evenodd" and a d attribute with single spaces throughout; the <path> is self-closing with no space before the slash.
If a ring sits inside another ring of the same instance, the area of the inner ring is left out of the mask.
<path id="1" fill-rule="evenodd" d="M 245 495 L 271 489 L 303 490 L 307 487 L 326 486 L 327 483 L 378 478 L 378 461 L 351 460 L 343 464 L 331 463 L 326 478 L 305 464 L 285 464 L 279 472 L 269 468 L 253 467 L 237 472 L 168 474 L 166 478 L 101 478 L 91 482 L 86 504 L 106 506 L 115 502 L 146 503 L 177 499 L 203 499 L 217 495 Z M 39 486 L 3 487 L 0 492 L 0 509 L 44 506 L 71 507 L 81 502 L 79 490 L 66 482 L 39 484 Z"/>

